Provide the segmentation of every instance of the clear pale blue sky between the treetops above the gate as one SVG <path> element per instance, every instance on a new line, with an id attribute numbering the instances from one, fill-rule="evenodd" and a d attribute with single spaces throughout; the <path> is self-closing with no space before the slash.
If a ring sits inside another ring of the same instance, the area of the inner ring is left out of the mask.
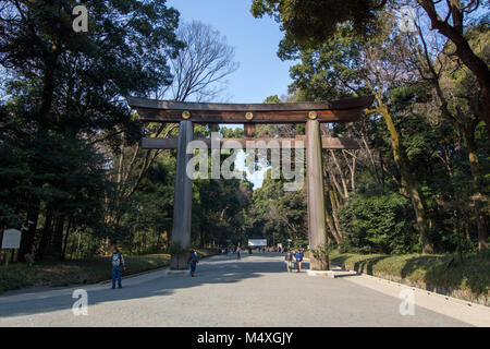
<path id="1" fill-rule="evenodd" d="M 291 61 L 283 62 L 275 55 L 282 33 L 270 17 L 255 19 L 250 0 L 170 0 L 181 20 L 197 20 L 210 24 L 226 36 L 235 48 L 236 72 L 228 77 L 228 89 L 219 100 L 226 103 L 262 103 L 270 95 L 285 95 L 291 83 Z M 230 125 L 229 125 L 230 127 Z M 245 169 L 244 153 L 237 155 L 236 166 Z M 264 168 L 248 173 L 254 189 L 262 184 Z"/>

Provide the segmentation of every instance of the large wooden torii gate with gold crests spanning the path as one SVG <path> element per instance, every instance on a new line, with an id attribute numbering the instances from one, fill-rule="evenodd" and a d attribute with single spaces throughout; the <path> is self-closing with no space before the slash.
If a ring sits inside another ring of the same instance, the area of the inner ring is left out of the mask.
<path id="1" fill-rule="evenodd" d="M 358 148 L 355 139 L 321 137 L 320 122 L 355 122 L 362 111 L 372 104 L 373 97 L 351 98 L 339 101 L 286 104 L 213 104 L 177 103 L 128 97 L 130 107 L 137 110 L 143 122 L 179 122 L 179 137 L 143 139 L 144 149 L 177 149 L 172 242 L 182 248 L 191 243 L 192 179 L 186 176 L 191 155 L 187 144 L 194 140 L 194 123 L 243 123 L 244 139 L 233 139 L 243 145 L 246 141 L 289 142 L 291 147 L 306 147 L 306 183 L 308 206 L 308 238 L 311 249 L 326 242 L 324 191 L 321 149 Z M 295 139 L 255 139 L 256 123 L 305 123 L 305 136 Z M 210 139 L 198 139 L 210 144 Z M 231 139 L 220 139 L 221 142 Z M 296 142 L 302 141 L 302 142 Z M 306 144 L 305 144 L 306 143 Z M 256 143 L 257 144 L 257 143 Z M 258 143 L 260 144 L 260 143 Z M 314 256 L 313 270 L 324 270 L 326 265 Z M 172 256 L 172 269 L 186 269 L 186 254 Z"/>

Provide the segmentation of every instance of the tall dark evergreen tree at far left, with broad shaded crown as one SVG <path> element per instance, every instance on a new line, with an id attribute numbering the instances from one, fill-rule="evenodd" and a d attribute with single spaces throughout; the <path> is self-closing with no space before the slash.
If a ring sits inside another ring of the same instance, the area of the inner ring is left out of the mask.
<path id="1" fill-rule="evenodd" d="M 2 82 L 8 86 L 2 108 L 3 142 L 73 140 L 91 144 L 94 152 L 100 153 L 117 148 L 121 133 L 124 142 L 135 142 L 140 127 L 123 97 L 146 95 L 171 82 L 167 59 L 182 45 L 174 33 L 179 13 L 167 8 L 166 1 L 87 1 L 87 33 L 72 28 L 75 4 L 69 0 L 9 0 L 1 4 L 0 63 L 9 73 L 9 81 Z M 39 144 L 36 147 L 41 148 Z M 70 147 L 60 145 L 59 151 L 65 148 Z M 46 161 L 49 152 L 36 153 L 29 164 Z M 107 168 L 110 164 L 111 159 L 105 159 L 97 166 Z M 60 213 L 46 205 L 38 193 L 53 182 L 46 176 L 30 178 L 36 190 L 30 191 L 32 205 L 24 215 L 34 224 L 23 238 L 21 258 L 33 251 L 41 212 L 40 231 L 50 241 L 54 229 L 51 217 Z M 56 229 L 63 229 L 60 219 Z"/>

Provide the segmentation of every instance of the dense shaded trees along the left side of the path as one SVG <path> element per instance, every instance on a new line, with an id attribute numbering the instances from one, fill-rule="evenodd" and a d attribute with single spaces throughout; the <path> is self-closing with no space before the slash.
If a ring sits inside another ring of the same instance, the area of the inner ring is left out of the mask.
<path id="1" fill-rule="evenodd" d="M 161 251 L 171 233 L 175 152 L 145 152 L 138 143 L 175 135 L 177 125 L 140 124 L 124 97 L 174 83 L 169 61 L 186 47 L 179 13 L 164 0 L 85 1 L 89 29 L 75 33 L 76 4 L 0 4 L 0 227 L 27 228 L 19 260 L 86 257 L 115 243 L 128 253 Z M 194 184 L 199 245 L 238 226 L 236 193 L 246 190 L 216 184 Z"/>

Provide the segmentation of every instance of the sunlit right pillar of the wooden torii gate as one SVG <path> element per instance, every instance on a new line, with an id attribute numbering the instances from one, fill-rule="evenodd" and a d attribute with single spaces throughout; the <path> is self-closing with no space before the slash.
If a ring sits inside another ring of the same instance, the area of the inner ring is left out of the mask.
<path id="1" fill-rule="evenodd" d="M 308 238 L 310 250 L 319 249 L 327 240 L 324 216 L 323 167 L 320 122 L 306 121 L 306 185 L 308 205 Z M 309 256 L 311 270 L 327 270 L 327 261 Z"/>

